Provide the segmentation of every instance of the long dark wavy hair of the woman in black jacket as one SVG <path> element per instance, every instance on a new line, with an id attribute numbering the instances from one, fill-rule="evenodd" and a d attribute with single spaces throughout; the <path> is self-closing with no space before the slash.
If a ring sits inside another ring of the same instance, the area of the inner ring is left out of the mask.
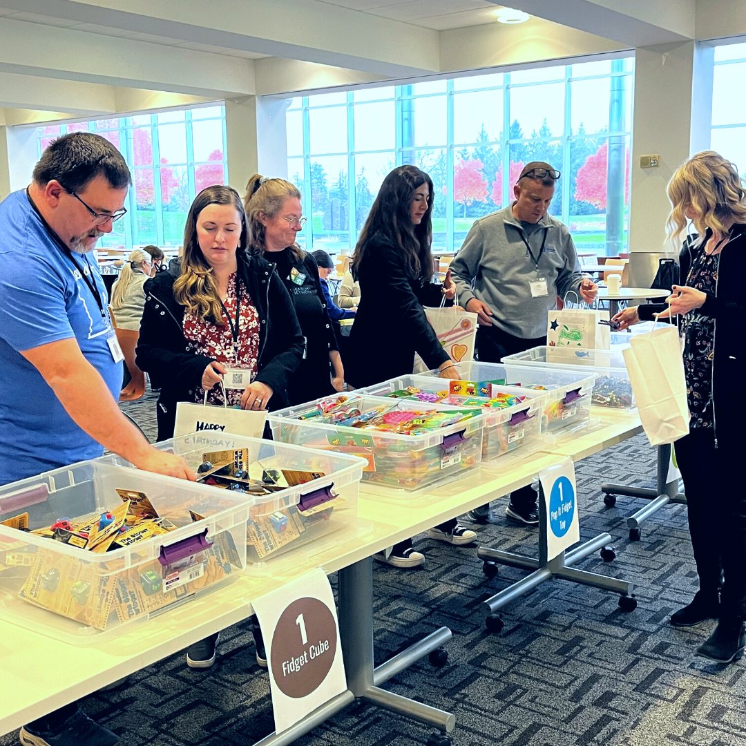
<path id="1" fill-rule="evenodd" d="M 416 189 L 427 184 L 427 212 L 419 225 L 413 225 L 411 205 Z M 369 242 L 383 239 L 401 250 L 410 275 L 424 282 L 433 275 L 433 180 L 416 166 L 398 166 L 383 179 L 378 195 L 357 239 L 352 259 L 352 274 L 365 257 Z"/>

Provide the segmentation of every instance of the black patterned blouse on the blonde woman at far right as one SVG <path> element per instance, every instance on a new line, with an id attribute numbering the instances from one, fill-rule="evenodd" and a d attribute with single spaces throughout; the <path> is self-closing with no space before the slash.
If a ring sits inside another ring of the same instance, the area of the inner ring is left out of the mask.
<path id="1" fill-rule="evenodd" d="M 703 292 L 715 295 L 718 286 L 718 263 L 720 254 L 705 254 L 699 251 L 686 284 Z M 692 419 L 690 427 L 712 427 L 712 354 L 715 339 L 715 319 L 703 316 L 695 308 L 683 316 L 684 374 L 686 395 Z"/>

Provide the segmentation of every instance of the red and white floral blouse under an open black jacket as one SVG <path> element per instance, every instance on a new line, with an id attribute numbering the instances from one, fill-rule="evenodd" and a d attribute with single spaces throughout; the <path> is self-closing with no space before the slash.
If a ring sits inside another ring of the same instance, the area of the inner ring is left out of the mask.
<path id="1" fill-rule="evenodd" d="M 256 373 L 259 357 L 259 314 L 245 287 L 237 282 L 235 272 L 228 278 L 228 295 L 223 301 L 223 307 L 222 326 L 195 316 L 187 310 L 184 313 L 184 336 L 195 345 L 197 354 L 212 357 L 231 368 Z M 236 324 L 236 307 L 239 309 L 238 342 L 234 344 L 232 327 Z M 226 394 L 229 407 L 240 404 L 241 389 L 228 389 Z M 195 401 L 203 399 L 204 389 L 198 388 L 195 392 Z M 210 404 L 223 403 L 220 386 L 213 386 L 213 389 L 210 389 L 207 401 Z"/>

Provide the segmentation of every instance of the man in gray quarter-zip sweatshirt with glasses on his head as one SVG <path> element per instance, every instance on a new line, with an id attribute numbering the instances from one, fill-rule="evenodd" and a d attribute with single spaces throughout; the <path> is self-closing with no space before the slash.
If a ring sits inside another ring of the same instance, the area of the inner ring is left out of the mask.
<path id="1" fill-rule="evenodd" d="M 570 232 L 547 214 L 559 178 L 548 163 L 527 163 L 513 187 L 513 204 L 477 220 L 451 262 L 459 304 L 479 316 L 482 362 L 499 363 L 545 345 L 547 312 L 557 307 L 558 295 L 573 291 L 587 303 L 595 299 L 597 288 L 580 275 Z M 487 508 L 473 517 L 487 520 Z M 505 512 L 538 524 L 536 492 L 530 486 L 516 490 Z"/>

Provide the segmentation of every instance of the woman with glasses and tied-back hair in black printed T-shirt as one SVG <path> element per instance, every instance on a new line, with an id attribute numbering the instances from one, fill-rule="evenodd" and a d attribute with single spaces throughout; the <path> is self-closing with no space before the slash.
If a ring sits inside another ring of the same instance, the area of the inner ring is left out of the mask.
<path id="1" fill-rule="evenodd" d="M 319 266 L 295 242 L 306 222 L 301 192 L 284 179 L 254 174 L 244 198 L 249 250 L 275 266 L 292 298 L 305 340 L 303 360 L 287 386 L 290 404 L 342 391 L 345 372 L 327 314 Z"/>

